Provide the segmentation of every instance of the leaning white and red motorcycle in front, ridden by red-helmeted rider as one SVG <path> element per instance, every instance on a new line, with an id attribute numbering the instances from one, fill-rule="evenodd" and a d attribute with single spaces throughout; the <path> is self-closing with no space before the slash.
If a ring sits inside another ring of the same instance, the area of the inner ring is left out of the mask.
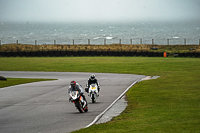
<path id="1" fill-rule="evenodd" d="M 70 91 L 70 100 L 75 104 L 75 107 L 79 110 L 80 113 L 88 111 L 87 102 L 83 99 L 78 91 Z"/>

